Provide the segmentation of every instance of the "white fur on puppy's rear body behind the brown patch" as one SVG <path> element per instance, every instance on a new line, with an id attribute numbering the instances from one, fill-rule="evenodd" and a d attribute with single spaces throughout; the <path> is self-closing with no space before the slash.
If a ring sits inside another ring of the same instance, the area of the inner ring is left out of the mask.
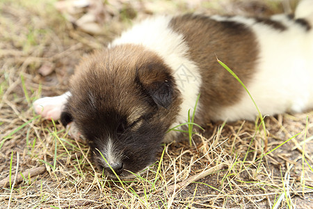
<path id="1" fill-rule="evenodd" d="M 307 8 L 306 8 L 307 9 Z M 313 12 L 313 6 L 311 8 Z M 256 74 L 248 91 L 264 115 L 280 114 L 285 111 L 303 111 L 313 107 L 313 33 L 303 26 L 288 21 L 283 15 L 280 20 L 286 30 L 273 29 L 257 23 L 252 18 L 214 16 L 218 21 L 234 21 L 246 24 L 255 33 L 259 43 L 259 59 Z M 247 56 L 249 56 L 247 54 Z M 227 65 L 227 61 L 223 61 Z M 220 111 L 218 120 L 254 120 L 257 109 L 248 93 L 240 102 Z"/>

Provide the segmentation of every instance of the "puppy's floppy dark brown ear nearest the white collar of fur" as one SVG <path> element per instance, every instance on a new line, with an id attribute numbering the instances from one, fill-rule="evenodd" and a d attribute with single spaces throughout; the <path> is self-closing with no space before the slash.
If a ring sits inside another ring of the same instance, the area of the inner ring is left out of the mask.
<path id="1" fill-rule="evenodd" d="M 170 68 L 158 61 L 137 69 L 137 82 L 158 107 L 168 108 L 173 97 L 173 78 Z"/>

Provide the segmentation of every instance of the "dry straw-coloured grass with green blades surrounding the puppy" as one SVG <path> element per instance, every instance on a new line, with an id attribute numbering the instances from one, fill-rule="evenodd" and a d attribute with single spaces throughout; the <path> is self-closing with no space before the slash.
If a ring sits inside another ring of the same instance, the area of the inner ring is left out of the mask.
<path id="1" fill-rule="evenodd" d="M 90 36 L 72 29 L 52 0 L 35 2 L 0 2 L 0 208 L 313 208 L 313 112 L 266 117 L 266 136 L 259 121 L 208 124 L 192 146 L 163 145 L 141 177 L 103 177 L 84 141 L 35 116 L 31 103 L 40 93 L 63 93 L 79 58 L 127 22 Z M 220 2 L 202 10 L 281 9 L 269 1 Z M 40 76 L 42 66 L 54 72 Z"/>

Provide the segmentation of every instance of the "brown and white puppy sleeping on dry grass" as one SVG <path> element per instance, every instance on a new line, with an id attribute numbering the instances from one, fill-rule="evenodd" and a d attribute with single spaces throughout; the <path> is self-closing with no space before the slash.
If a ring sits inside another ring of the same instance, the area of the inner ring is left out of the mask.
<path id="1" fill-rule="evenodd" d="M 152 17 L 83 59 L 70 91 L 33 106 L 75 125 L 109 177 L 129 178 L 154 162 L 162 141 L 175 139 L 168 130 L 186 123 L 199 94 L 195 123 L 255 119 L 252 100 L 216 57 L 262 114 L 312 108 L 312 2 L 269 19 Z"/>

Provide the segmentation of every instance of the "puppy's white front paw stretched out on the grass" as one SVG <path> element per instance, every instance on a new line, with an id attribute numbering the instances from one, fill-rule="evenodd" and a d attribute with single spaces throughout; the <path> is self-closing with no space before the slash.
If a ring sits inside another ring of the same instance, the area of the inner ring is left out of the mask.
<path id="1" fill-rule="evenodd" d="M 61 112 L 64 108 L 67 98 L 71 95 L 69 91 L 63 95 L 56 97 L 45 97 L 35 100 L 33 108 L 36 114 L 40 114 L 42 118 L 58 120 L 61 117 Z"/>

